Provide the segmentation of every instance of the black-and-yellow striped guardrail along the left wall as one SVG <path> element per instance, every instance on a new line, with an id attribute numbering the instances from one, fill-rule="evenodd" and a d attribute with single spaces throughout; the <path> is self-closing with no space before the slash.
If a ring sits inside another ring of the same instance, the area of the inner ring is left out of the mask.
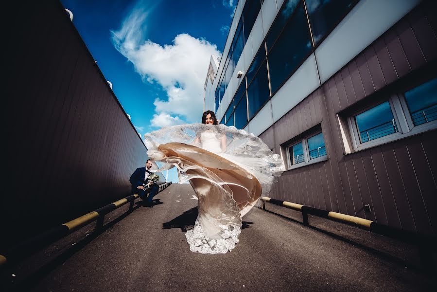
<path id="1" fill-rule="evenodd" d="M 170 184 L 172 184 L 172 182 L 159 185 L 158 193 L 166 189 Z M 120 208 L 128 202 L 130 202 L 129 210 L 133 210 L 134 202 L 138 198 L 138 194 L 130 195 L 95 211 L 89 212 L 81 217 L 68 221 L 60 226 L 53 227 L 36 237 L 32 237 L 21 244 L 18 244 L 11 250 L 5 252 L 4 255 L 0 255 L 0 268 L 4 267 L 7 263 L 15 262 L 20 258 L 24 258 L 25 256 L 40 250 L 95 220 L 97 220 L 97 222 L 94 231 L 100 230 L 103 227 L 103 221 L 105 220 L 106 214 Z"/>

